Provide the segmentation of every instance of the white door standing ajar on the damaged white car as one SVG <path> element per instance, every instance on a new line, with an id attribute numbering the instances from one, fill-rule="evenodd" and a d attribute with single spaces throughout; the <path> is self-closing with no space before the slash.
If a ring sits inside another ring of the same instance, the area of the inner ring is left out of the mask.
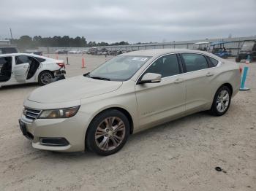
<path id="1" fill-rule="evenodd" d="M 17 82 L 26 82 L 26 74 L 29 70 L 30 60 L 27 55 L 18 55 L 15 57 L 15 66 L 13 73 Z"/>

